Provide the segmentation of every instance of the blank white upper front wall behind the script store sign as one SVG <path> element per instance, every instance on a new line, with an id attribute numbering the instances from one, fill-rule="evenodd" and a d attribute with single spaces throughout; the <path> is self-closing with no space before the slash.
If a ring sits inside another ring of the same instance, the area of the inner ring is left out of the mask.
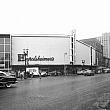
<path id="1" fill-rule="evenodd" d="M 49 36 L 12 36 L 12 65 L 24 65 L 18 61 L 18 54 L 23 54 L 23 49 L 29 49 L 29 65 L 64 65 L 70 64 L 70 37 Z M 32 61 L 32 59 L 35 61 Z M 51 60 L 42 60 L 52 58 Z"/>

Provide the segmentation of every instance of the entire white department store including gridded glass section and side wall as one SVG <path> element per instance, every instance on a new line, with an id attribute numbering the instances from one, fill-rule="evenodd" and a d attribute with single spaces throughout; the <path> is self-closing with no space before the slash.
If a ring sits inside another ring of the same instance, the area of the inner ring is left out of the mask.
<path id="1" fill-rule="evenodd" d="M 26 59 L 24 51 L 28 52 Z M 94 53 L 89 45 L 77 41 L 75 34 L 0 35 L 0 70 L 33 67 L 64 70 L 64 66 L 81 67 L 82 61 L 94 66 Z"/>

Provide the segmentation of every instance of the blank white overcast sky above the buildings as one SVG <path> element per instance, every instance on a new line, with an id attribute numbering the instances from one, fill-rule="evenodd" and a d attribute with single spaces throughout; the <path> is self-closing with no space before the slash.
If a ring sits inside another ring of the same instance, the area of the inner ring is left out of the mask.
<path id="1" fill-rule="evenodd" d="M 71 34 L 77 39 L 110 32 L 110 0 L 0 0 L 0 33 Z"/>

